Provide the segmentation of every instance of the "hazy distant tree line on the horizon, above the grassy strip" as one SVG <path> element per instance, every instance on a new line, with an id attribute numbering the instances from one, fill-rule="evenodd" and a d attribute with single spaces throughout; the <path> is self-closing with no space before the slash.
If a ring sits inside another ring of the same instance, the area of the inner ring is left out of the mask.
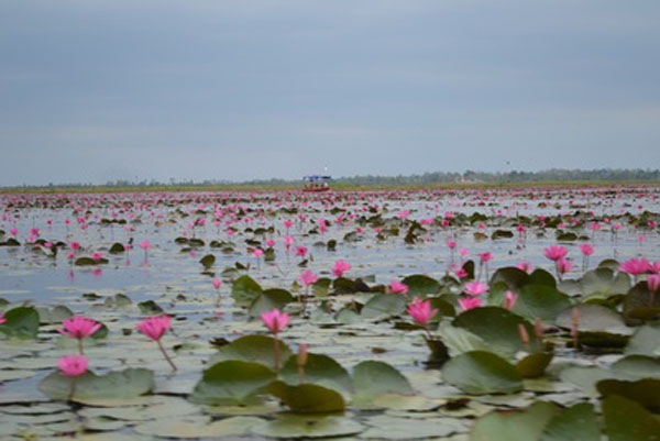
<path id="1" fill-rule="evenodd" d="M 464 173 L 455 172 L 428 172 L 418 175 L 360 175 L 350 177 L 336 177 L 334 183 L 348 185 L 430 185 L 430 184 L 516 184 L 516 183 L 568 183 L 568 181 L 649 181 L 660 183 L 660 169 L 641 169 L 641 168 L 597 168 L 597 169 L 563 169 L 549 168 L 540 172 L 475 172 L 465 170 Z M 205 179 L 194 180 L 184 179 L 176 180 L 170 178 L 167 183 L 162 183 L 155 179 L 117 179 L 108 181 L 103 185 L 88 183 L 69 183 L 69 184 L 48 184 L 46 188 L 74 188 L 74 187 L 211 187 L 211 186 L 265 186 L 265 187 L 288 187 L 299 185 L 300 180 L 271 178 L 271 179 L 253 179 L 244 181 L 232 181 L 228 179 Z M 18 187 L 18 186 L 16 186 Z M 21 188 L 31 186 L 23 185 Z M 40 186 L 41 187 L 41 186 Z M 15 187 L 14 187 L 15 188 Z"/>

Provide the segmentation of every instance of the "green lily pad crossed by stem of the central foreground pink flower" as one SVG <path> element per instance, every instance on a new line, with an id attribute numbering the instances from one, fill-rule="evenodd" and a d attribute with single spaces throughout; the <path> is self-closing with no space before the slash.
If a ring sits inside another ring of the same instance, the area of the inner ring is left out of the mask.
<path id="1" fill-rule="evenodd" d="M 283 341 L 277 344 L 279 345 L 279 360 L 287 360 L 292 355 L 292 350 Z M 274 370 L 274 351 L 275 339 L 271 335 L 244 335 L 221 346 L 209 360 L 209 365 L 230 360 L 242 360 L 260 363 Z"/>

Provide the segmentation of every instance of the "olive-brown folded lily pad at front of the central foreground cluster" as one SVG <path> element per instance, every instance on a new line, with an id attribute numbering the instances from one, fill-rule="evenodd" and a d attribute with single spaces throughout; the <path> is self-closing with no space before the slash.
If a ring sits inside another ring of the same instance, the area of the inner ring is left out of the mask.
<path id="1" fill-rule="evenodd" d="M 331 414 L 345 409 L 345 401 L 340 393 L 318 384 L 292 386 L 274 382 L 265 390 L 279 398 L 295 414 Z"/>

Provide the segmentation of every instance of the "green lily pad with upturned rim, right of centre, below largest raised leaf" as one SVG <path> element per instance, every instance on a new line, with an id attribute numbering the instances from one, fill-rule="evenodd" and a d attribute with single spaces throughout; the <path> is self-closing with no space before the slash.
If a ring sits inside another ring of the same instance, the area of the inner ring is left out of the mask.
<path id="1" fill-rule="evenodd" d="M 524 326 L 534 337 L 534 327 L 522 317 L 499 307 L 470 309 L 457 316 L 452 324 L 481 338 L 490 350 L 510 356 L 518 351 L 529 350 L 520 341 L 518 326 Z"/>

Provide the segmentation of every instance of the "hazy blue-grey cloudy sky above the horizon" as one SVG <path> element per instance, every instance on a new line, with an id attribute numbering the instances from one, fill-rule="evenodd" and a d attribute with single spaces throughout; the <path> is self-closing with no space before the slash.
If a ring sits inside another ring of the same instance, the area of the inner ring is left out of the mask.
<path id="1" fill-rule="evenodd" d="M 0 0 L 0 186 L 660 167 L 658 0 Z"/>

